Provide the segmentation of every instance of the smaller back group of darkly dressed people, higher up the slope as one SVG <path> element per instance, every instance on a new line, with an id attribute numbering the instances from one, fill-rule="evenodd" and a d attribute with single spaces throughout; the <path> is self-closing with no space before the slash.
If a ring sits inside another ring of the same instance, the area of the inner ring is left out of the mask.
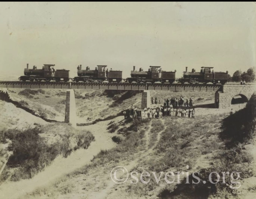
<path id="1" fill-rule="evenodd" d="M 160 100 L 157 100 L 157 97 L 155 97 L 155 99 L 153 97 L 151 97 L 151 104 L 160 104 Z M 189 106 L 193 106 L 193 100 L 191 98 L 188 99 L 184 99 L 183 96 L 181 96 L 179 99 L 172 97 L 170 100 L 169 99 L 164 99 L 164 107 L 189 107 Z"/>

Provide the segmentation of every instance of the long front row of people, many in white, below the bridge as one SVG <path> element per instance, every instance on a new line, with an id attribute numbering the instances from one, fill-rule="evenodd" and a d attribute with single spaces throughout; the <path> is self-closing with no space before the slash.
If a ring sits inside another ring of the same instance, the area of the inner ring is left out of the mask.
<path id="1" fill-rule="evenodd" d="M 172 104 L 170 106 L 160 106 L 157 108 L 138 108 L 131 105 L 130 108 L 123 112 L 124 119 L 128 118 L 163 118 L 163 116 L 177 116 L 183 118 L 194 118 L 195 109 L 181 109 L 181 107 L 174 109 Z"/>

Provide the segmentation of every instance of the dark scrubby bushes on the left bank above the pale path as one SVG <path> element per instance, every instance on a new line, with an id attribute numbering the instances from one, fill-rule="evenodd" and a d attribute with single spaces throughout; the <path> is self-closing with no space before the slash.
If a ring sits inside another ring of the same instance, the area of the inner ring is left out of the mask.
<path id="1" fill-rule="evenodd" d="M 44 138 L 39 135 L 43 133 L 41 129 L 39 127 L 25 131 L 10 129 L 0 134 L 3 135 L 1 139 L 12 141 L 8 150 L 13 151 L 13 154 L 9 157 L 7 167 L 15 168 L 15 172 L 9 174 L 10 180 L 30 179 L 49 166 L 59 154 L 68 157 L 73 150 L 87 149 L 90 142 L 95 140 L 89 131 L 71 131 L 72 129 L 67 127 L 67 132 L 61 135 L 58 142 L 47 145 Z M 74 139 L 77 145 L 71 148 Z M 3 177 L 1 179 L 3 180 Z"/>

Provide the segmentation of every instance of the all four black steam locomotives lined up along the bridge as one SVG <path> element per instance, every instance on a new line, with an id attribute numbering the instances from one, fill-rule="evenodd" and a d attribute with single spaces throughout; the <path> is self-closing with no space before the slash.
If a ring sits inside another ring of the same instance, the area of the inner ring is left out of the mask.
<path id="1" fill-rule="evenodd" d="M 69 77 L 69 70 L 61 69 L 55 70 L 53 67 L 55 64 L 44 64 L 42 69 L 37 69 L 36 66 L 33 69 L 24 69 L 24 76 L 19 77 L 20 81 L 56 81 L 56 82 L 67 82 L 70 79 L 74 82 L 84 82 L 84 83 L 189 83 L 189 84 L 225 84 L 228 81 L 228 71 L 226 72 L 214 72 L 213 67 L 201 67 L 200 72 L 186 71 L 183 72 L 183 77 L 176 80 L 176 70 L 175 71 L 162 71 L 161 66 L 149 66 L 148 71 L 143 71 L 143 68 L 139 68 L 139 71 L 135 70 L 133 66 L 133 71 L 131 71 L 130 77 L 123 79 L 122 71 L 120 70 L 106 70 L 107 65 L 97 65 L 95 70 L 90 70 L 90 67 L 86 67 L 82 70 L 82 65 L 77 67 L 77 76 L 74 78 Z"/>

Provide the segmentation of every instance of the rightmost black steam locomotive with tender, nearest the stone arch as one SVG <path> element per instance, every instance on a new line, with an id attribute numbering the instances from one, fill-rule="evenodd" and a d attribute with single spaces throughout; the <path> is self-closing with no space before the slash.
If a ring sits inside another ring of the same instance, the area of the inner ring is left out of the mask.
<path id="1" fill-rule="evenodd" d="M 178 80 L 180 83 L 204 83 L 209 82 L 213 84 L 225 84 L 228 81 L 228 71 L 225 72 L 214 72 L 213 67 L 201 67 L 200 72 L 195 72 L 195 69 L 192 69 L 192 72 L 188 72 L 188 67 L 186 71 L 183 72 L 183 77 Z"/>

